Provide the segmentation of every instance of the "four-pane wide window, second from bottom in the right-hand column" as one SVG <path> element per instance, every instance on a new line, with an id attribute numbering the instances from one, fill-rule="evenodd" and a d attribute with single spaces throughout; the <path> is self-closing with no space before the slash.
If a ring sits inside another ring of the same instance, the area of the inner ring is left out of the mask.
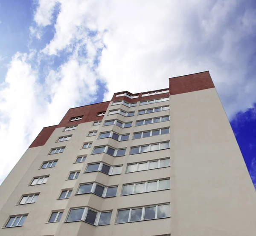
<path id="1" fill-rule="evenodd" d="M 170 179 L 152 180 L 142 183 L 134 183 L 123 185 L 122 196 L 135 194 L 135 193 L 146 193 L 152 191 L 160 191 L 170 189 Z"/>

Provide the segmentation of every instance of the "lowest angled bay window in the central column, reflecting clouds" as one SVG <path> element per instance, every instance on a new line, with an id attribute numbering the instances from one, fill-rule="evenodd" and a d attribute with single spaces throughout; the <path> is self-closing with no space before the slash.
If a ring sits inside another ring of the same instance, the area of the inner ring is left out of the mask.
<path id="1" fill-rule="evenodd" d="M 84 221 L 92 225 L 109 225 L 112 211 L 99 212 L 90 208 L 70 209 L 66 222 Z"/>

